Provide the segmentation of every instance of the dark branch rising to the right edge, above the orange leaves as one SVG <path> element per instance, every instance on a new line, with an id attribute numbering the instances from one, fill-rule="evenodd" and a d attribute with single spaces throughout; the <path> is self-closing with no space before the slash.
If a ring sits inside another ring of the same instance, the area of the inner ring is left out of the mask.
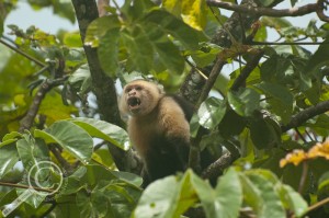
<path id="1" fill-rule="evenodd" d="M 315 106 L 310 106 L 299 112 L 298 114 L 295 114 L 288 124 L 281 126 L 281 130 L 287 131 L 292 128 L 298 127 L 302 124 L 304 124 L 306 121 L 317 115 L 324 114 L 328 111 L 329 111 L 329 101 L 320 102 Z"/>

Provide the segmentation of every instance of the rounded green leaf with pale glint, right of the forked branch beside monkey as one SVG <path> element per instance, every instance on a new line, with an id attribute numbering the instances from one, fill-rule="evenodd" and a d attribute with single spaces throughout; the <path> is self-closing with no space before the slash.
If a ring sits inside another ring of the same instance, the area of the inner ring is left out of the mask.
<path id="1" fill-rule="evenodd" d="M 248 88 L 240 89 L 238 92 L 228 92 L 227 100 L 230 107 L 240 116 L 251 116 L 260 107 L 260 94 Z"/>

